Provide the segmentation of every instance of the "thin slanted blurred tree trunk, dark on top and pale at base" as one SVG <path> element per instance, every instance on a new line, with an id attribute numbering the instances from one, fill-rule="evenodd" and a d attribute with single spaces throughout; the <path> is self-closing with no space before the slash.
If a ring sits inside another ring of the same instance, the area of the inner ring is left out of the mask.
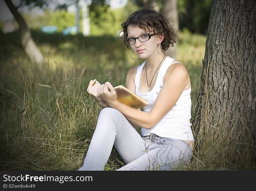
<path id="1" fill-rule="evenodd" d="M 31 32 L 27 27 L 24 19 L 19 14 L 17 8 L 13 5 L 12 1 L 5 0 L 5 2 L 19 24 L 21 44 L 26 54 L 32 61 L 35 61 L 38 65 L 41 65 L 44 61 L 44 58 L 38 47 L 35 45 L 35 42 L 31 36 Z"/>

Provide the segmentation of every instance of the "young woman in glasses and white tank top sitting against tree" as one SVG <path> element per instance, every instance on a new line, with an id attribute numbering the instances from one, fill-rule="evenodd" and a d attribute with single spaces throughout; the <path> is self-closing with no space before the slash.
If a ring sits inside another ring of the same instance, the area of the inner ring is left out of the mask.
<path id="1" fill-rule="evenodd" d="M 149 105 L 143 111 L 126 106 L 111 83 L 92 86 L 90 81 L 87 91 L 103 109 L 79 170 L 104 170 L 113 144 L 126 163 L 118 170 L 172 170 L 189 163 L 194 143 L 190 78 L 182 63 L 164 54 L 174 46 L 176 30 L 151 9 L 131 14 L 122 29 L 131 58 L 145 59 L 129 70 L 126 87 Z M 141 135 L 136 126 L 142 127 Z"/>

